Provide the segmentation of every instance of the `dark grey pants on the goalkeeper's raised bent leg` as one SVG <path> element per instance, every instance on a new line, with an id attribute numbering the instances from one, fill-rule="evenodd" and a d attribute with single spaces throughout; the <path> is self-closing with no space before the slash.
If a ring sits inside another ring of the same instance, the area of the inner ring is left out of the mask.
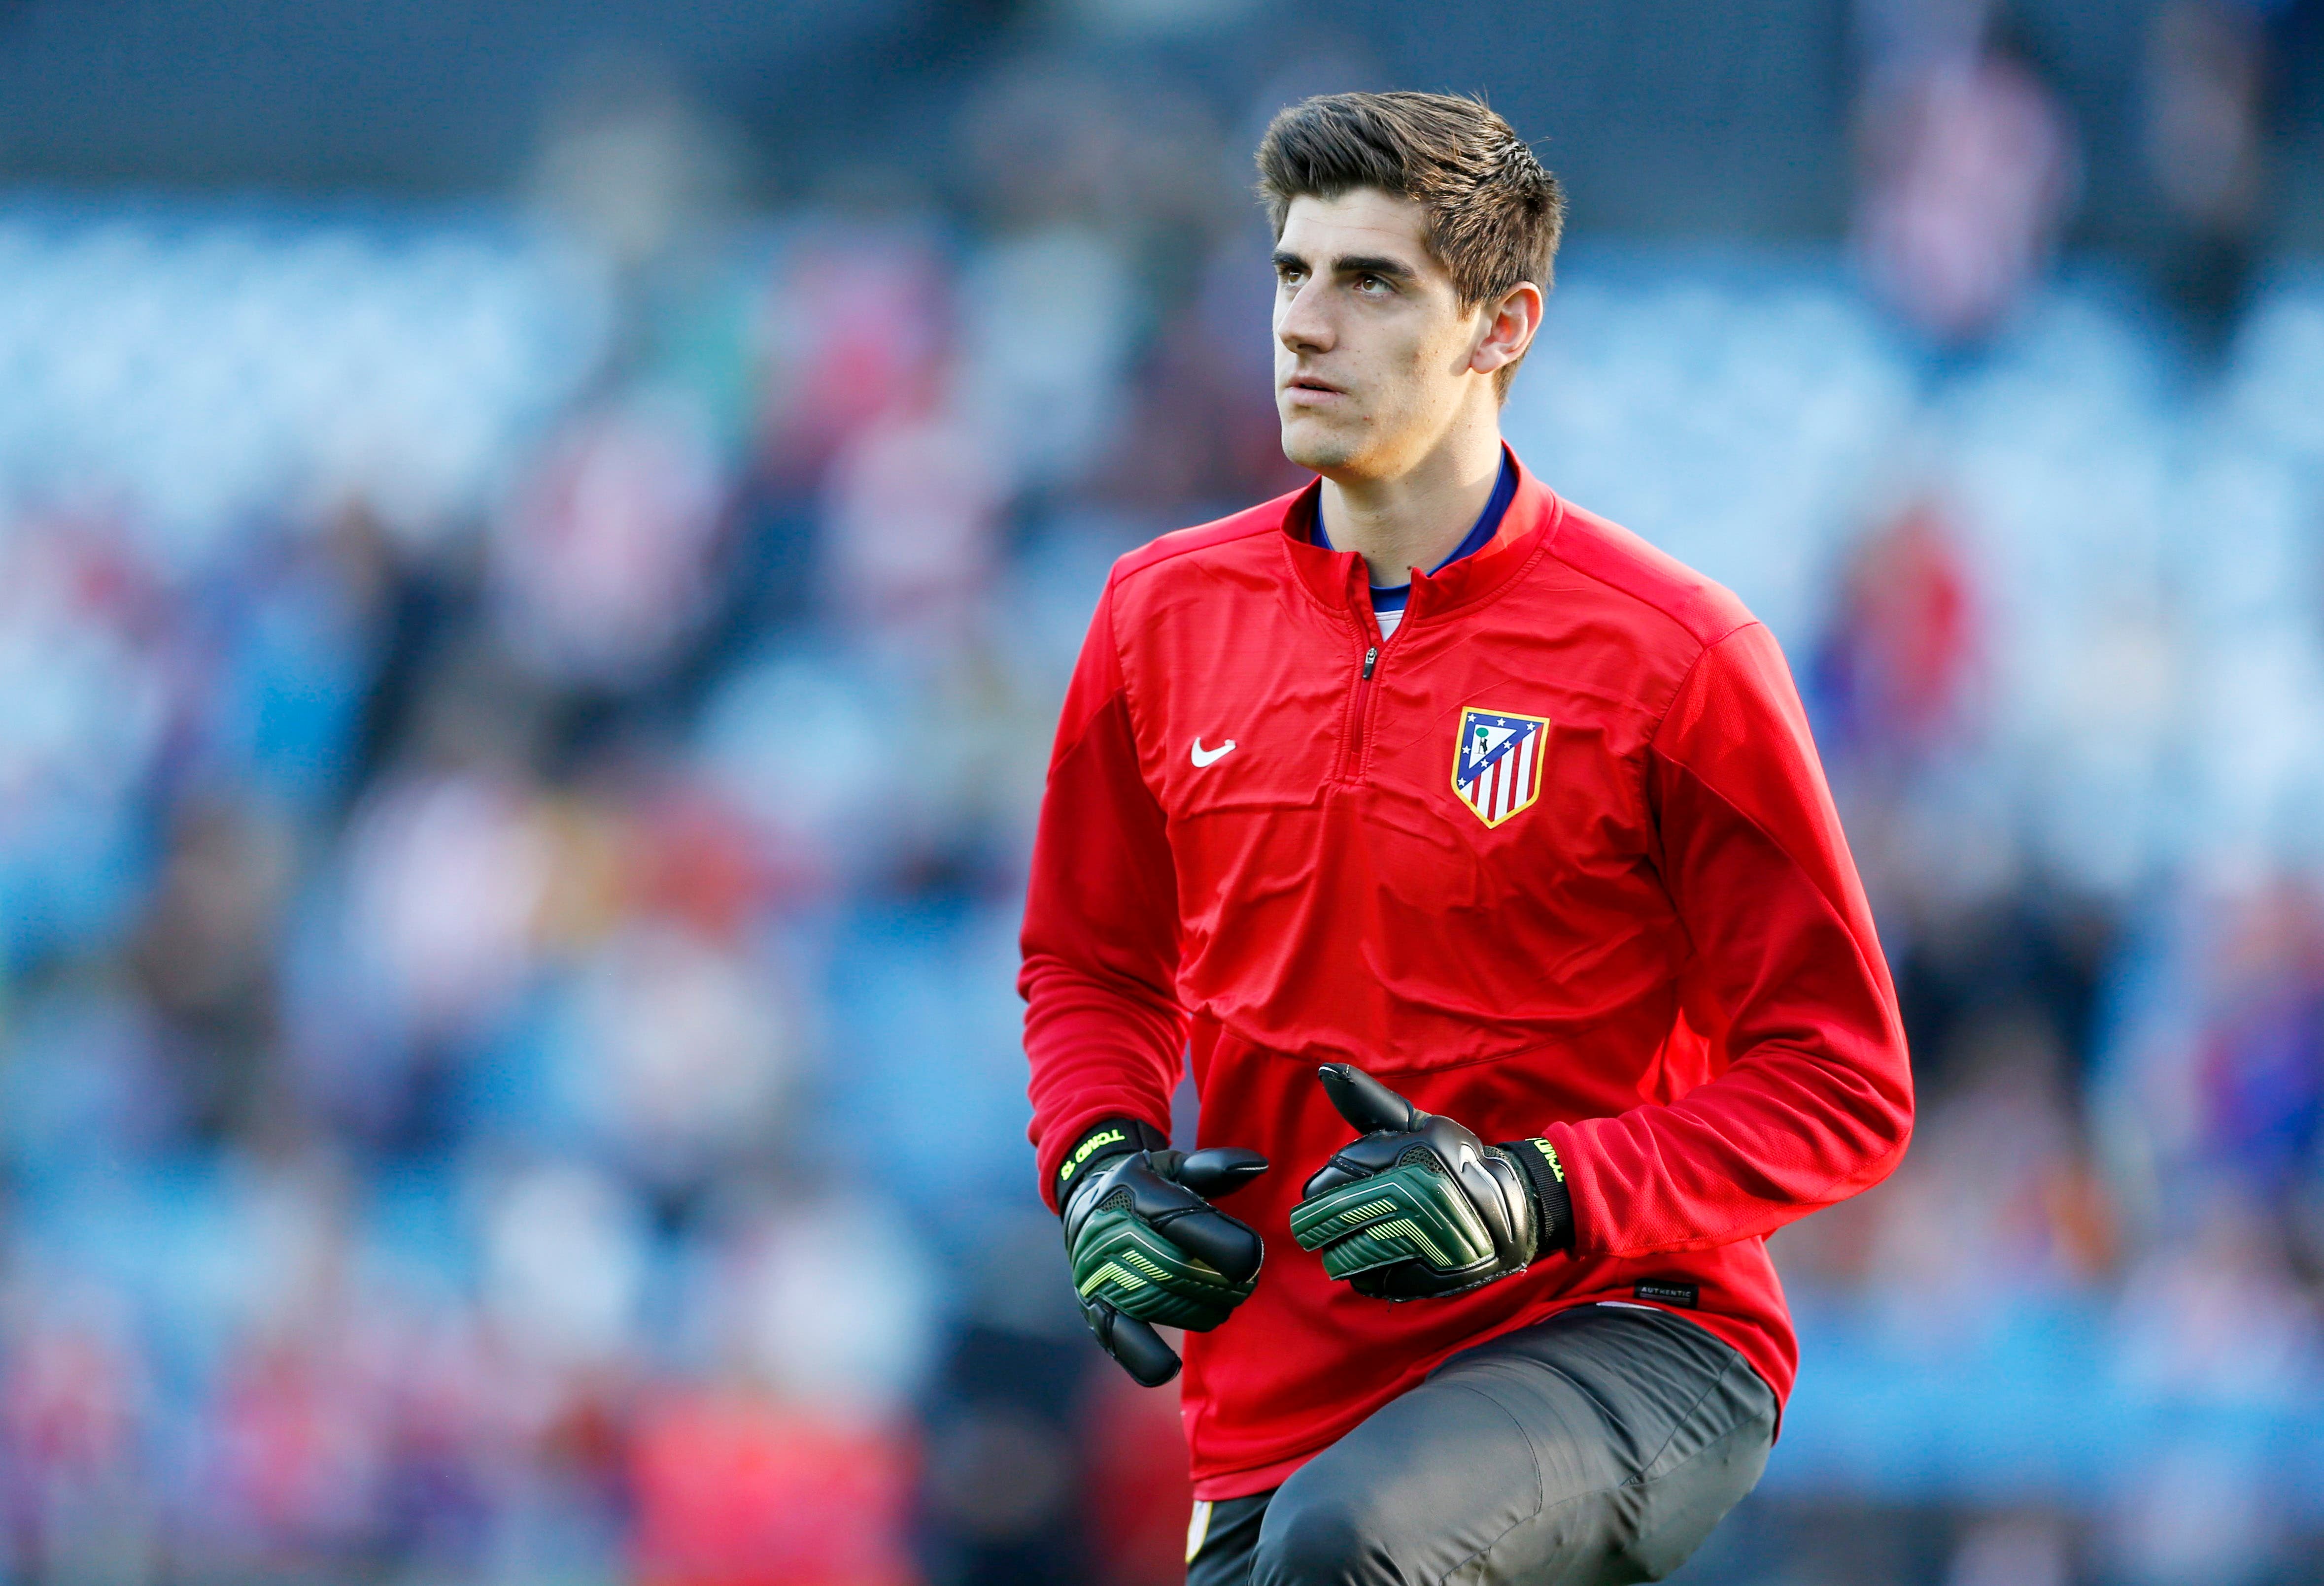
<path id="1" fill-rule="evenodd" d="M 1662 1310 L 1464 1349 L 1283 1486 L 1197 1507 L 1188 1586 L 1659 1581 L 1766 1468 L 1776 1396 Z"/>

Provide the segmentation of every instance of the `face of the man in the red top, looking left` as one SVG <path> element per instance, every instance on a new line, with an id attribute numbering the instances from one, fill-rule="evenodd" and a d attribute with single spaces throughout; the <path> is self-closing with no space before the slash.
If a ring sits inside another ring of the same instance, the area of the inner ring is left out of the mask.
<path id="1" fill-rule="evenodd" d="M 1378 188 L 1294 197 L 1276 244 L 1283 455 L 1334 476 L 1411 469 L 1490 374 L 1420 204 Z"/>

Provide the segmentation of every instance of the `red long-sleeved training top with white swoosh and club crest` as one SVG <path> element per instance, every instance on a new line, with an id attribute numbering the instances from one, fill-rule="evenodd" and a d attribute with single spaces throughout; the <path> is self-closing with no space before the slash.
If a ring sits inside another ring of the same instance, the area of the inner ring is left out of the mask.
<path id="1" fill-rule="evenodd" d="M 1764 1238 L 1887 1175 L 1896 994 L 1773 636 L 1520 471 L 1499 534 L 1415 569 L 1385 643 L 1318 485 L 1125 555 L 1057 722 L 1025 906 L 1043 1196 L 1090 1124 L 1264 1152 L 1225 1201 L 1257 1293 L 1185 1338 L 1199 1498 L 1278 1486 L 1439 1361 L 1594 1300 L 1664 1303 L 1778 1398 Z M 1573 1254 L 1390 1305 L 1290 1235 L 1350 1138 L 1350 1061 L 1485 1140 L 1548 1136 Z M 1643 1286 L 1641 1286 L 1643 1284 Z"/>

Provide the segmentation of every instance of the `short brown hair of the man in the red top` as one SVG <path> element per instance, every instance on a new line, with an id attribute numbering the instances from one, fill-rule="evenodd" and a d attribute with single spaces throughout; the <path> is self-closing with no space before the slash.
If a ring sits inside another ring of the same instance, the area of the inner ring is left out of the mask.
<path id="1" fill-rule="evenodd" d="M 1427 211 L 1429 251 L 1462 311 L 1520 281 L 1550 290 L 1566 195 L 1483 100 L 1455 93 L 1320 93 L 1267 123 L 1260 200 L 1283 237 L 1294 197 L 1378 188 Z M 1499 369 L 1506 392 L 1518 365 Z"/>

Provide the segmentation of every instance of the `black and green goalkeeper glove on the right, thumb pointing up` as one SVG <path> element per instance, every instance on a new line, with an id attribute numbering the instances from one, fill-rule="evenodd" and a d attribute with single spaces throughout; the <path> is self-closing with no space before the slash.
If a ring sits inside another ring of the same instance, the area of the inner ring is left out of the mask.
<path id="1" fill-rule="evenodd" d="M 1292 1238 L 1376 1300 L 1427 1300 L 1573 1247 L 1573 1201 L 1548 1140 L 1485 1145 L 1353 1064 L 1325 1064 L 1339 1115 L 1364 1131 L 1301 1189 Z"/>

